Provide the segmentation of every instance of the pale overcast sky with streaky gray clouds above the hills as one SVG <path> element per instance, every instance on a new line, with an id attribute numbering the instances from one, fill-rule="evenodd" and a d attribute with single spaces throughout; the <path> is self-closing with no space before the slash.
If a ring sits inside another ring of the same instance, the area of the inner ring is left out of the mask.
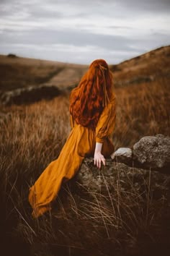
<path id="1" fill-rule="evenodd" d="M 170 45 L 170 0 L 0 0 L 0 54 L 117 64 Z"/>

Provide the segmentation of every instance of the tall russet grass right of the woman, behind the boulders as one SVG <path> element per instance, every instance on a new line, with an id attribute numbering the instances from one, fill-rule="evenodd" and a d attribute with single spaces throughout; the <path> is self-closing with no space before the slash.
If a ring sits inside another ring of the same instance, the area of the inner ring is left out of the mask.
<path id="1" fill-rule="evenodd" d="M 170 135 L 169 82 L 162 78 L 116 90 L 117 122 L 113 140 L 117 147 L 132 147 L 147 135 Z"/>

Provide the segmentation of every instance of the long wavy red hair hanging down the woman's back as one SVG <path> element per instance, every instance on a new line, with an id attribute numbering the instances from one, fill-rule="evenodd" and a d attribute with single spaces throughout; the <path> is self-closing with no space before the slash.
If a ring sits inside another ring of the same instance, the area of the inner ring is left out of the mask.
<path id="1" fill-rule="evenodd" d="M 77 124 L 95 129 L 113 93 L 113 76 L 104 59 L 91 62 L 79 85 L 71 91 L 70 114 Z"/>

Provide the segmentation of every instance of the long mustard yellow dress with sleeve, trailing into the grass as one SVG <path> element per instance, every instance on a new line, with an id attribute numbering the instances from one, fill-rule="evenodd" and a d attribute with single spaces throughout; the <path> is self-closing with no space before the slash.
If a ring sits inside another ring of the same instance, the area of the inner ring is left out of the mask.
<path id="1" fill-rule="evenodd" d="M 103 143 L 104 157 L 109 157 L 114 152 L 115 148 L 109 140 L 109 135 L 115 127 L 115 101 L 115 95 L 112 95 L 99 117 L 96 129 L 75 124 L 71 116 L 71 133 L 60 155 L 45 168 L 35 184 L 30 187 L 29 202 L 33 209 L 33 218 L 51 210 L 52 202 L 57 197 L 61 184 L 79 171 L 84 157 L 94 156 L 96 142 Z"/>

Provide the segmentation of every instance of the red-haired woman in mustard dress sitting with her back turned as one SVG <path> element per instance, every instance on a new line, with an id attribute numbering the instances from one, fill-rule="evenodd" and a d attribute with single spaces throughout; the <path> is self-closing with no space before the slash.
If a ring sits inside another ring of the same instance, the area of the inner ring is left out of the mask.
<path id="1" fill-rule="evenodd" d="M 61 184 L 71 179 L 84 157 L 94 156 L 98 168 L 105 165 L 115 148 L 109 135 L 115 127 L 115 94 L 112 72 L 104 59 L 94 60 L 77 88 L 70 95 L 71 133 L 58 159 L 52 161 L 30 187 L 32 216 L 37 218 L 51 209 Z"/>

